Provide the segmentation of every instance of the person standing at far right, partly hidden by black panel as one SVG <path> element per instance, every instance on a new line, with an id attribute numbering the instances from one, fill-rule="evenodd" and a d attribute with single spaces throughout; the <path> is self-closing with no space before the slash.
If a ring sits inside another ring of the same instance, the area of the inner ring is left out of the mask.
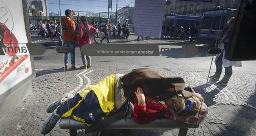
<path id="1" fill-rule="evenodd" d="M 220 44 L 219 44 L 219 48 L 222 51 L 219 55 L 216 55 L 216 58 L 215 58 L 216 72 L 214 73 L 214 75 L 210 76 L 211 79 L 218 81 L 222 72 L 222 67 L 224 67 L 225 75 L 223 79 L 220 80 L 219 82 L 216 82 L 216 84 L 220 86 L 227 86 L 228 81 L 233 73 L 232 66 L 242 67 L 241 61 L 230 61 L 224 58 L 224 54 L 226 52 L 227 46 L 230 43 L 230 39 L 231 39 L 230 29 L 233 26 L 234 20 L 235 20 L 235 17 L 232 17 L 227 21 L 229 29 L 227 30 L 225 36 L 221 38 Z"/>

